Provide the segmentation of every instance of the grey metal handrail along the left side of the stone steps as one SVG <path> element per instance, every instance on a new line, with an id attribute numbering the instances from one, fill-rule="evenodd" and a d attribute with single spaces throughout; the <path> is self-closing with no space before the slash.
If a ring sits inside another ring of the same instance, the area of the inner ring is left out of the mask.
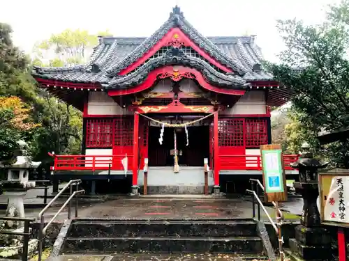
<path id="1" fill-rule="evenodd" d="M 52 224 L 54 219 L 57 218 L 59 213 L 62 212 L 64 207 L 66 207 L 66 205 L 68 205 L 68 203 L 69 203 L 69 206 L 68 206 L 68 219 L 71 218 L 71 216 L 70 216 L 70 214 L 71 214 L 70 213 L 71 212 L 71 200 L 74 198 L 74 196 L 75 196 L 75 218 L 77 217 L 77 195 L 80 194 L 80 193 L 84 193 L 84 189 L 79 190 L 79 184 L 80 183 L 81 183 L 81 180 L 70 180 L 66 184 L 66 186 L 64 186 L 61 189 L 61 191 L 59 191 L 59 193 L 57 193 L 57 195 L 54 196 L 54 198 L 52 198 L 52 200 L 38 214 L 38 220 L 40 221 L 39 239 L 38 239 L 38 261 L 42 260 L 42 256 L 43 256 L 43 237 L 46 235 L 47 228 Z M 76 190 L 74 192 L 73 192 L 73 185 L 76 185 Z M 69 196 L 69 198 L 64 202 L 62 207 L 56 212 L 56 214 L 54 214 L 52 219 L 50 219 L 50 221 L 44 227 L 44 224 L 45 224 L 44 214 L 45 214 L 45 212 L 57 200 L 57 198 L 59 198 L 59 196 L 61 196 L 61 194 L 64 193 L 64 191 L 66 191 L 66 189 L 68 187 L 70 188 L 70 196 Z"/>

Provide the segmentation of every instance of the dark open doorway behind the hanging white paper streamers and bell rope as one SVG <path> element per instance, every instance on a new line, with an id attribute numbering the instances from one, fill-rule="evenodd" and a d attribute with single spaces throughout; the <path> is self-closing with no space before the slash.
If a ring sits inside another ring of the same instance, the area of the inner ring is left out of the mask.
<path id="1" fill-rule="evenodd" d="M 164 127 L 163 141 L 160 143 L 161 127 L 149 127 L 149 166 L 174 166 L 174 147 L 177 147 L 179 167 L 204 166 L 209 159 L 209 125 Z M 175 136 L 175 137 L 174 137 Z M 176 145 L 174 145 L 176 139 Z"/>

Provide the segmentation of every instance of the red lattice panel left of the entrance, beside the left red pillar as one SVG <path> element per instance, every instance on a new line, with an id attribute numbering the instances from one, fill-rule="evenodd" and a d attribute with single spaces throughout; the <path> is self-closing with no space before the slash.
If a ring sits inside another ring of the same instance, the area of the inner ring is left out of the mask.
<path id="1" fill-rule="evenodd" d="M 133 117 L 114 119 L 114 145 L 125 147 L 133 145 Z"/>

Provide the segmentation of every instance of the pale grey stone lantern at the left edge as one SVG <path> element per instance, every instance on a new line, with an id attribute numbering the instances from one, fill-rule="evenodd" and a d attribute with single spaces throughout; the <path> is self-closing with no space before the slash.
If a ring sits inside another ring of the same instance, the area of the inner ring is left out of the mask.
<path id="1" fill-rule="evenodd" d="M 24 196 L 29 189 L 35 187 L 35 182 L 29 182 L 29 170 L 38 168 L 41 162 L 31 161 L 27 156 L 25 146 L 27 143 L 18 141 L 20 150 L 16 152 L 16 161 L 14 164 L 6 165 L 0 163 L 0 168 L 8 171 L 7 181 L 1 182 L 3 194 L 8 196 L 8 206 L 6 216 L 24 218 Z M 6 221 L 6 228 L 21 228 L 22 222 Z"/>

